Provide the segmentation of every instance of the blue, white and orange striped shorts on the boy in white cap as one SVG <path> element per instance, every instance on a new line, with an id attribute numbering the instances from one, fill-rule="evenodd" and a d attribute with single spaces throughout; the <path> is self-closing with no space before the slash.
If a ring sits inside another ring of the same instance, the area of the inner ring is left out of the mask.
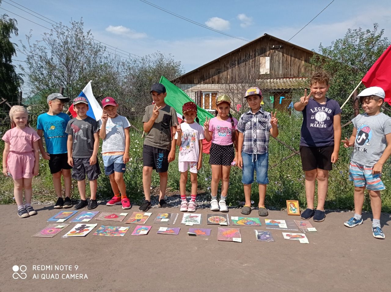
<path id="1" fill-rule="evenodd" d="M 380 178 L 380 173 L 372 174 L 372 167 L 350 162 L 349 180 L 353 182 L 355 187 L 366 187 L 370 191 L 384 190 L 386 186 Z"/>

